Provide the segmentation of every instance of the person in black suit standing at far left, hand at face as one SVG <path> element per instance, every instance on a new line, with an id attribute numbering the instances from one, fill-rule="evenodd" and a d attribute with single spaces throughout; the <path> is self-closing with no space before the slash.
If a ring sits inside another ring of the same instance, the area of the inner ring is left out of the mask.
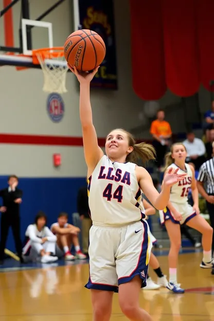
<path id="1" fill-rule="evenodd" d="M 19 179 L 15 175 L 8 177 L 8 188 L 0 190 L 3 206 L 0 207 L 1 215 L 1 240 L 0 240 L 0 264 L 4 260 L 4 250 L 7 242 L 9 227 L 15 241 L 17 255 L 22 259 L 22 240 L 20 236 L 20 204 L 22 203 L 22 190 L 17 188 Z"/>

